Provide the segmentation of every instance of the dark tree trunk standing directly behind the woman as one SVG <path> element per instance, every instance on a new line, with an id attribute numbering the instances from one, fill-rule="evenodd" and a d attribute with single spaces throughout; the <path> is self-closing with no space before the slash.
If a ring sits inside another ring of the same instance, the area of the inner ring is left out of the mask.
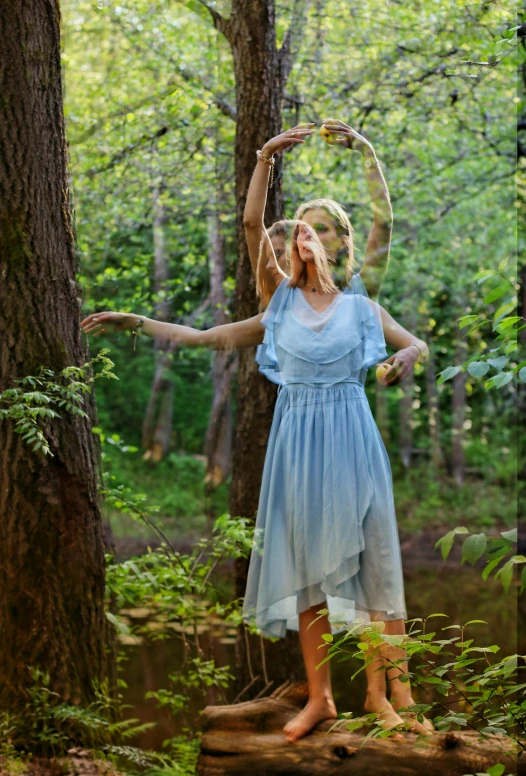
<path id="1" fill-rule="evenodd" d="M 256 150 L 281 131 L 281 106 L 286 78 L 290 71 L 290 37 L 280 51 L 276 48 L 274 0 L 232 0 L 229 19 L 210 6 L 216 27 L 232 48 L 236 78 L 237 126 L 235 143 L 236 230 L 238 267 L 235 317 L 242 320 L 256 315 L 258 305 L 255 280 L 250 265 L 243 228 L 246 194 L 256 164 Z M 297 20 L 295 20 L 298 23 Z M 282 217 L 280 161 L 275 184 L 269 189 L 265 220 Z M 237 423 L 232 460 L 230 513 L 252 517 L 258 505 L 261 473 L 276 398 L 276 388 L 257 369 L 253 348 L 239 356 Z M 236 595 L 244 596 L 248 561 L 236 561 Z M 236 645 L 236 679 L 240 690 L 250 685 L 250 693 L 261 692 L 268 682 L 275 685 L 300 670 L 297 651 L 286 639 L 271 643 L 249 637 L 241 627 Z M 266 654 L 265 654 L 266 653 Z"/>

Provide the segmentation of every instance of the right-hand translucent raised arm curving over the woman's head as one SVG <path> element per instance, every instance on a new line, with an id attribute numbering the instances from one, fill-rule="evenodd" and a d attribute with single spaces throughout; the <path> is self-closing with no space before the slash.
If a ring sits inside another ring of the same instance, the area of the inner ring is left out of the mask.
<path id="1" fill-rule="evenodd" d="M 335 133 L 331 144 L 344 145 L 352 151 L 358 151 L 363 158 L 365 178 L 371 197 L 373 225 L 367 238 L 360 275 L 370 298 L 377 299 L 387 270 L 391 248 L 393 210 L 389 190 L 373 146 L 368 140 L 343 121 L 327 119 L 323 125 L 329 132 Z"/>

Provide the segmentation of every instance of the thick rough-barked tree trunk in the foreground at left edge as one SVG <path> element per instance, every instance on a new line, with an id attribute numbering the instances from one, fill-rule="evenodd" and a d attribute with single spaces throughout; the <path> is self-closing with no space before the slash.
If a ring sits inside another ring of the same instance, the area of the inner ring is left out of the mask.
<path id="1" fill-rule="evenodd" d="M 0 5 L 0 391 L 45 365 L 82 365 L 57 0 Z M 32 452 L 0 423 L 0 710 L 28 666 L 65 699 L 105 675 L 104 546 L 91 423 L 66 411 Z"/>

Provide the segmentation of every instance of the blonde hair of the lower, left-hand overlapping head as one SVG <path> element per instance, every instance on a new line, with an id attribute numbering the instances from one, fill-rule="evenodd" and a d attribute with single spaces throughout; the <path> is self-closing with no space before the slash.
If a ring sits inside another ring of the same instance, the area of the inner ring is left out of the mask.
<path id="1" fill-rule="evenodd" d="M 285 237 L 286 253 L 288 262 L 290 262 L 291 273 L 289 285 L 292 288 L 303 288 L 307 282 L 307 264 L 300 257 L 298 250 L 298 233 L 300 227 L 306 229 L 310 235 L 309 240 L 304 244 L 312 251 L 314 265 L 318 272 L 320 289 L 324 293 L 338 291 L 338 288 L 332 279 L 332 274 L 329 267 L 329 262 L 331 262 L 332 259 L 329 258 L 327 252 L 325 251 L 325 248 L 323 247 L 320 238 L 316 234 L 315 229 L 300 219 L 277 221 L 266 233 L 263 234 L 259 246 L 256 288 L 260 298 L 260 308 L 264 308 L 268 305 L 273 292 L 273 289 L 271 290 L 268 283 L 268 273 L 266 270 L 266 247 L 268 245 L 268 238 L 281 234 Z"/>

